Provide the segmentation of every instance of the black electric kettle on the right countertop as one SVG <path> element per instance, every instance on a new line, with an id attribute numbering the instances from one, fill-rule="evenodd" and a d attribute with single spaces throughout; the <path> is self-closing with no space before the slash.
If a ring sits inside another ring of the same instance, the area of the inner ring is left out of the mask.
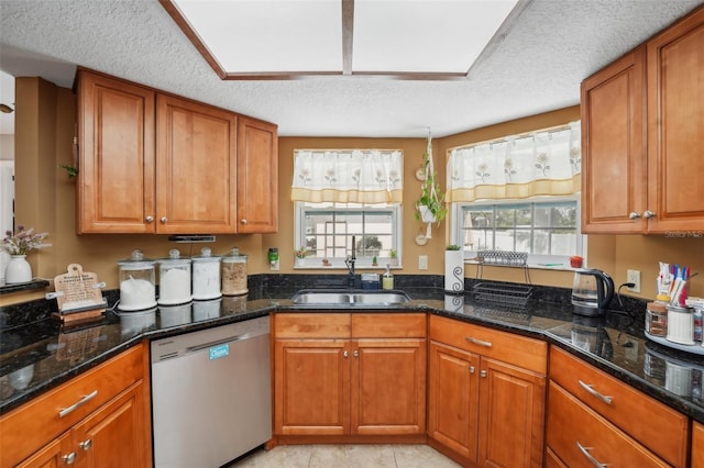
<path id="1" fill-rule="evenodd" d="M 586 316 L 603 316 L 614 297 L 614 280 L 602 270 L 579 269 L 572 285 L 574 313 Z"/>

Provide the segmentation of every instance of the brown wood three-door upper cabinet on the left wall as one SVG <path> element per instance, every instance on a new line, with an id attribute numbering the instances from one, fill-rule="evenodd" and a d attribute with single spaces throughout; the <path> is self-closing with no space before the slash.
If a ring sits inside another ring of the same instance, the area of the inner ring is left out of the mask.
<path id="1" fill-rule="evenodd" d="M 78 122 L 78 233 L 276 231 L 276 125 L 88 70 Z"/>

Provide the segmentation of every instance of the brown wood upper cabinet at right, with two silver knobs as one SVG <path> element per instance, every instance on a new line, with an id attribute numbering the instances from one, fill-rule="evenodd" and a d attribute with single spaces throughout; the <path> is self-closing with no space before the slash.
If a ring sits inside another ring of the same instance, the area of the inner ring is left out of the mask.
<path id="1" fill-rule="evenodd" d="M 582 82 L 582 232 L 704 230 L 704 8 Z"/>

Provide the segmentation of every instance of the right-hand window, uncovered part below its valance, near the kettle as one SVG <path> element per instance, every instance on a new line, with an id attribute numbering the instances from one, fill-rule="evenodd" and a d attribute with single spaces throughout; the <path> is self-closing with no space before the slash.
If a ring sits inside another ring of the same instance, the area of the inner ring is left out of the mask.
<path id="1" fill-rule="evenodd" d="M 570 256 L 583 253 L 574 199 L 455 203 L 453 209 L 453 243 L 469 258 L 483 249 L 528 252 L 529 264 L 568 266 Z"/>

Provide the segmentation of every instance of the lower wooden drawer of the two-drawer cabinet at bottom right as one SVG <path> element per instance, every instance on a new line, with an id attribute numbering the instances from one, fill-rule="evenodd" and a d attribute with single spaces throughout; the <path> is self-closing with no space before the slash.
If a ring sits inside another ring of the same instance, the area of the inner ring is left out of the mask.
<path id="1" fill-rule="evenodd" d="M 564 465 L 669 466 L 552 381 L 548 401 L 548 446 Z"/>

